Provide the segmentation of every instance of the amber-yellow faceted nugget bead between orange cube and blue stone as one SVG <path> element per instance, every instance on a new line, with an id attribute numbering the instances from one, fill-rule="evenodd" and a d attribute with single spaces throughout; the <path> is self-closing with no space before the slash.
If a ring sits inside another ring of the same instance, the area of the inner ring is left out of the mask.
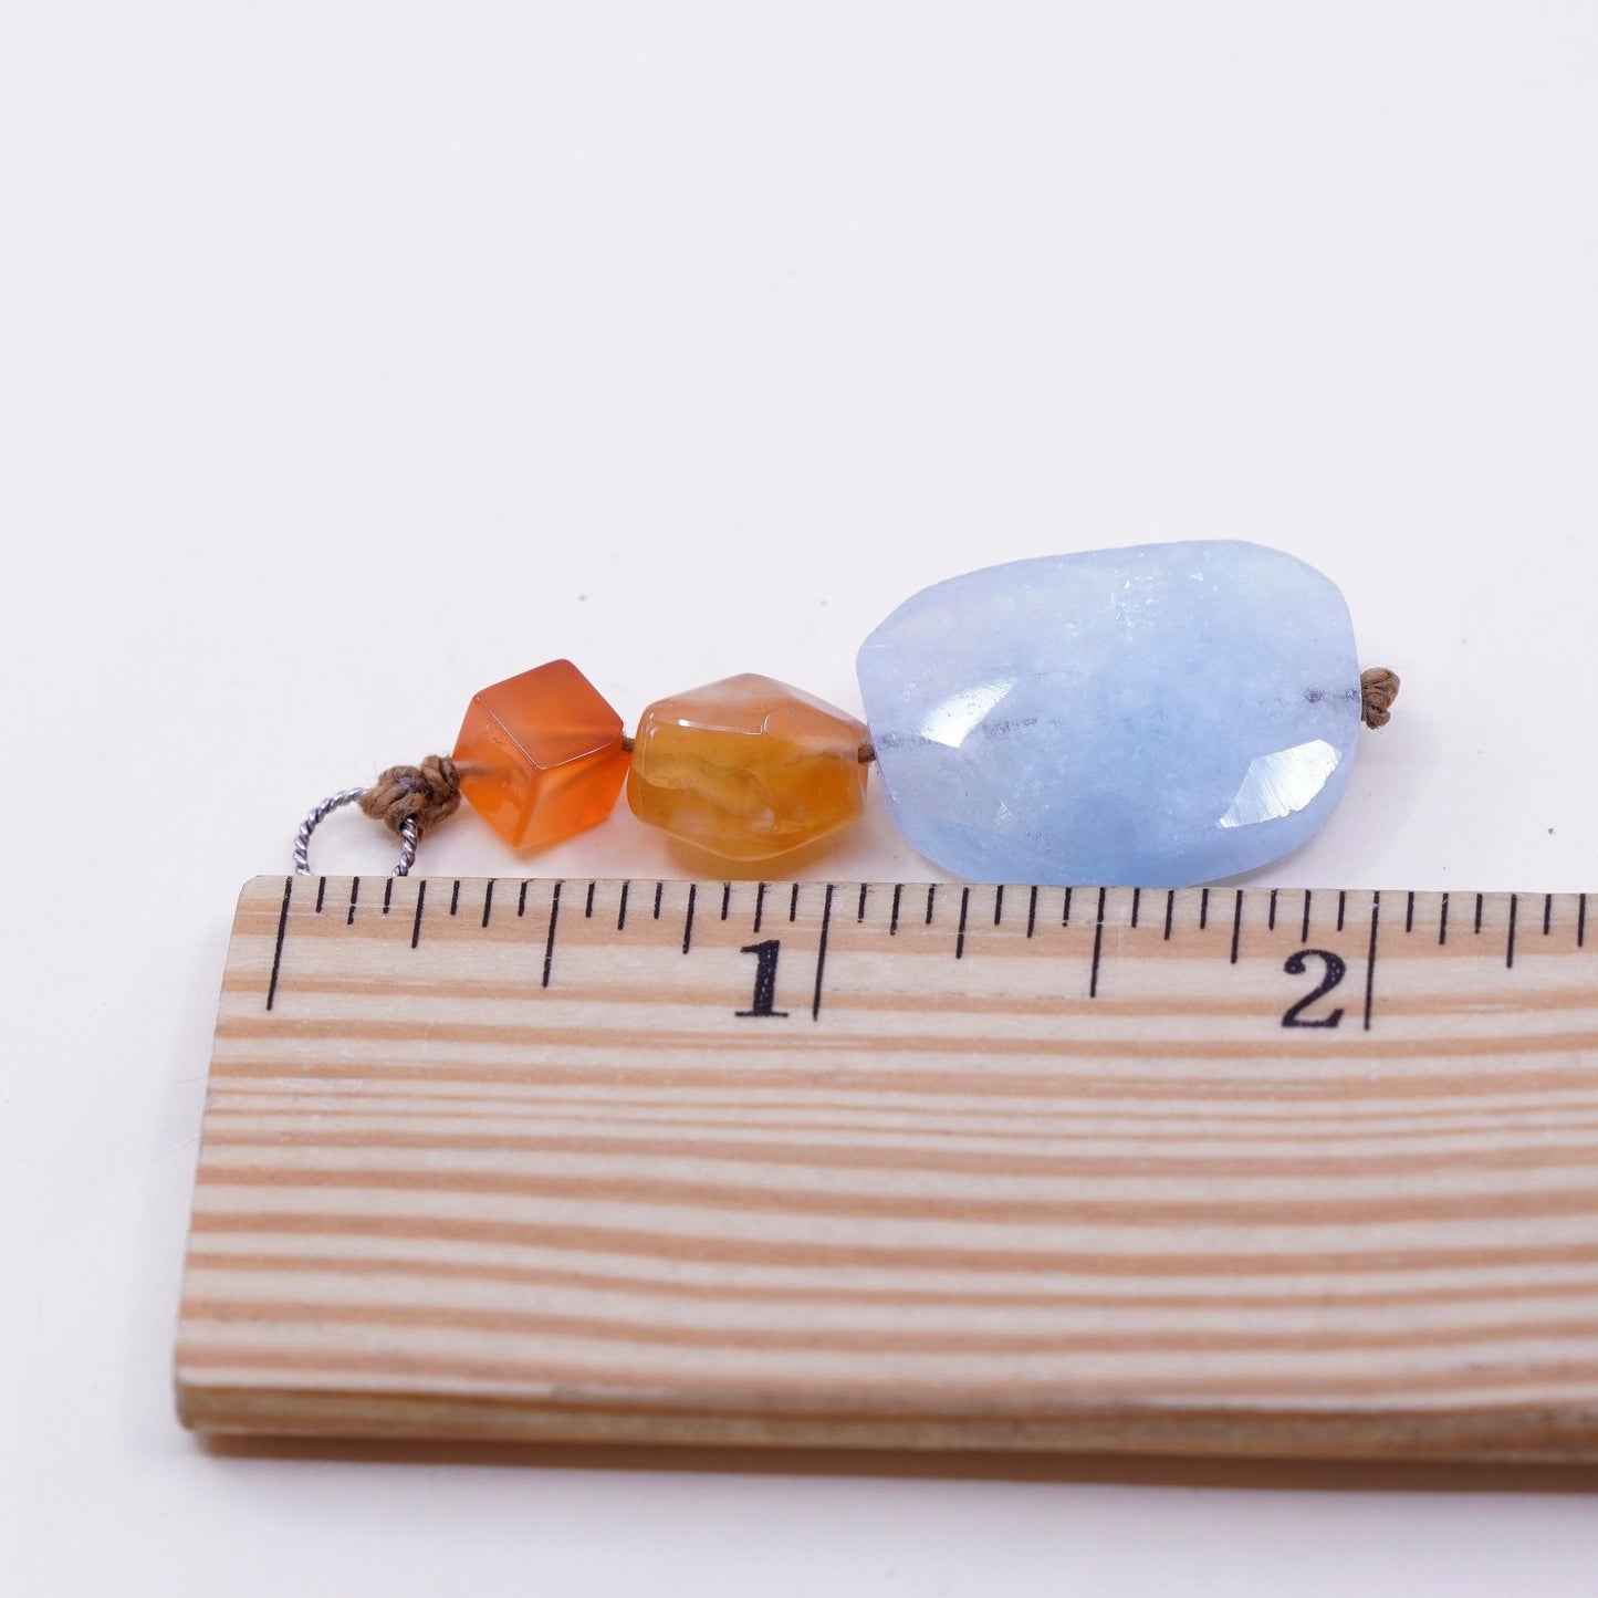
<path id="1" fill-rule="evenodd" d="M 745 673 L 644 711 L 626 802 L 686 844 L 769 860 L 860 815 L 865 741 L 853 716 Z"/>

